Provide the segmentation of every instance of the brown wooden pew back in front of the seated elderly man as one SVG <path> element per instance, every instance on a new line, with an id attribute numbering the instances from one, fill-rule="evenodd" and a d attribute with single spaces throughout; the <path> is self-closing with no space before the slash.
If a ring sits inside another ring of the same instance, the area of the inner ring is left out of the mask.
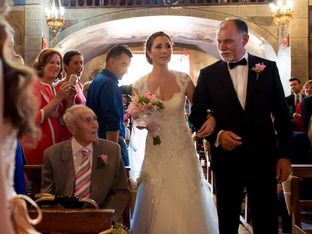
<path id="1" fill-rule="evenodd" d="M 42 233 L 111 233 L 112 209 L 41 209 L 42 221 L 35 226 Z M 38 215 L 29 209 L 30 217 Z"/>

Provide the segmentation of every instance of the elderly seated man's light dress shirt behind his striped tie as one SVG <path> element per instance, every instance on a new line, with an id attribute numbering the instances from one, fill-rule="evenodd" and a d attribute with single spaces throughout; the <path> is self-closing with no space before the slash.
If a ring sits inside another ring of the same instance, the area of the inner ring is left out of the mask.
<path id="1" fill-rule="evenodd" d="M 82 149 L 88 149 L 89 150 L 89 161 L 90 166 L 92 168 L 92 156 L 93 156 L 93 144 L 89 144 L 86 147 L 83 147 L 78 143 L 78 141 L 75 139 L 75 137 L 72 138 L 72 151 L 73 151 L 73 160 L 74 160 L 74 168 L 75 168 L 75 175 L 77 174 L 78 168 L 80 164 L 82 163 Z"/>

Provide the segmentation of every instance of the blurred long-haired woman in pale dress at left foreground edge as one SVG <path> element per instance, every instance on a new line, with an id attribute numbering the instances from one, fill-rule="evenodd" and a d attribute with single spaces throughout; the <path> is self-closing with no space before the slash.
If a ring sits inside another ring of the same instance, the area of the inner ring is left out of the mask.
<path id="1" fill-rule="evenodd" d="M 3 225 L 1 225 L 0 232 L 5 234 L 39 234 L 31 224 L 37 224 L 41 217 L 31 220 L 27 214 L 26 203 L 21 198 L 32 202 L 35 206 L 37 206 L 36 203 L 25 195 L 17 195 L 13 185 L 18 139 L 24 135 L 30 140 L 36 140 L 40 135 L 40 131 L 35 126 L 36 103 L 34 103 L 35 97 L 32 92 L 34 75 L 30 69 L 15 67 L 7 62 L 11 54 L 10 33 L 7 23 L 1 21 L 0 62 L 3 66 L 4 113 L 3 125 L 1 126 L 0 174 L 1 178 L 3 178 L 1 180 L 1 193 L 5 193 L 6 198 L 1 200 L 1 203 L 6 206 L 1 211 L 6 213 L 10 219 L 9 221 L 1 219 Z M 3 38 L 5 39 L 2 40 Z"/>

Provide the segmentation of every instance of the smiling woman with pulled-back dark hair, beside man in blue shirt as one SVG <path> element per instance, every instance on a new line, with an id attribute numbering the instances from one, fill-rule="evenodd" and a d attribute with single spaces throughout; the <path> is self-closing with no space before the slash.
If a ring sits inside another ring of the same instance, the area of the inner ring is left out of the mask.
<path id="1" fill-rule="evenodd" d="M 83 85 L 79 82 L 80 76 L 83 71 L 83 56 L 77 50 L 67 51 L 63 56 L 63 64 L 66 72 L 66 77 L 64 77 L 56 86 L 56 90 L 59 89 L 60 85 L 64 82 L 68 82 L 71 75 L 76 75 L 77 79 L 75 81 L 75 87 L 78 91 L 75 99 L 72 97 L 67 97 L 63 100 L 64 106 L 71 107 L 72 105 L 85 105 L 86 98 L 83 95 L 82 89 Z M 66 125 L 63 126 L 63 138 L 64 140 L 68 140 L 72 135 L 68 131 Z"/>

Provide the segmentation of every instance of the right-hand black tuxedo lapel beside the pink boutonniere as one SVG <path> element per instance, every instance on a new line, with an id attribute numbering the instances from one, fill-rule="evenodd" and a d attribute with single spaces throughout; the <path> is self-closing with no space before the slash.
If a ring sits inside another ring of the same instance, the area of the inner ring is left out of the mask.
<path id="1" fill-rule="evenodd" d="M 253 55 L 248 54 L 248 81 L 247 81 L 245 112 L 247 112 L 248 108 L 250 107 L 254 94 L 254 88 L 257 84 L 256 73 L 252 71 L 252 68 L 256 63 L 259 62 L 256 61 Z"/>

